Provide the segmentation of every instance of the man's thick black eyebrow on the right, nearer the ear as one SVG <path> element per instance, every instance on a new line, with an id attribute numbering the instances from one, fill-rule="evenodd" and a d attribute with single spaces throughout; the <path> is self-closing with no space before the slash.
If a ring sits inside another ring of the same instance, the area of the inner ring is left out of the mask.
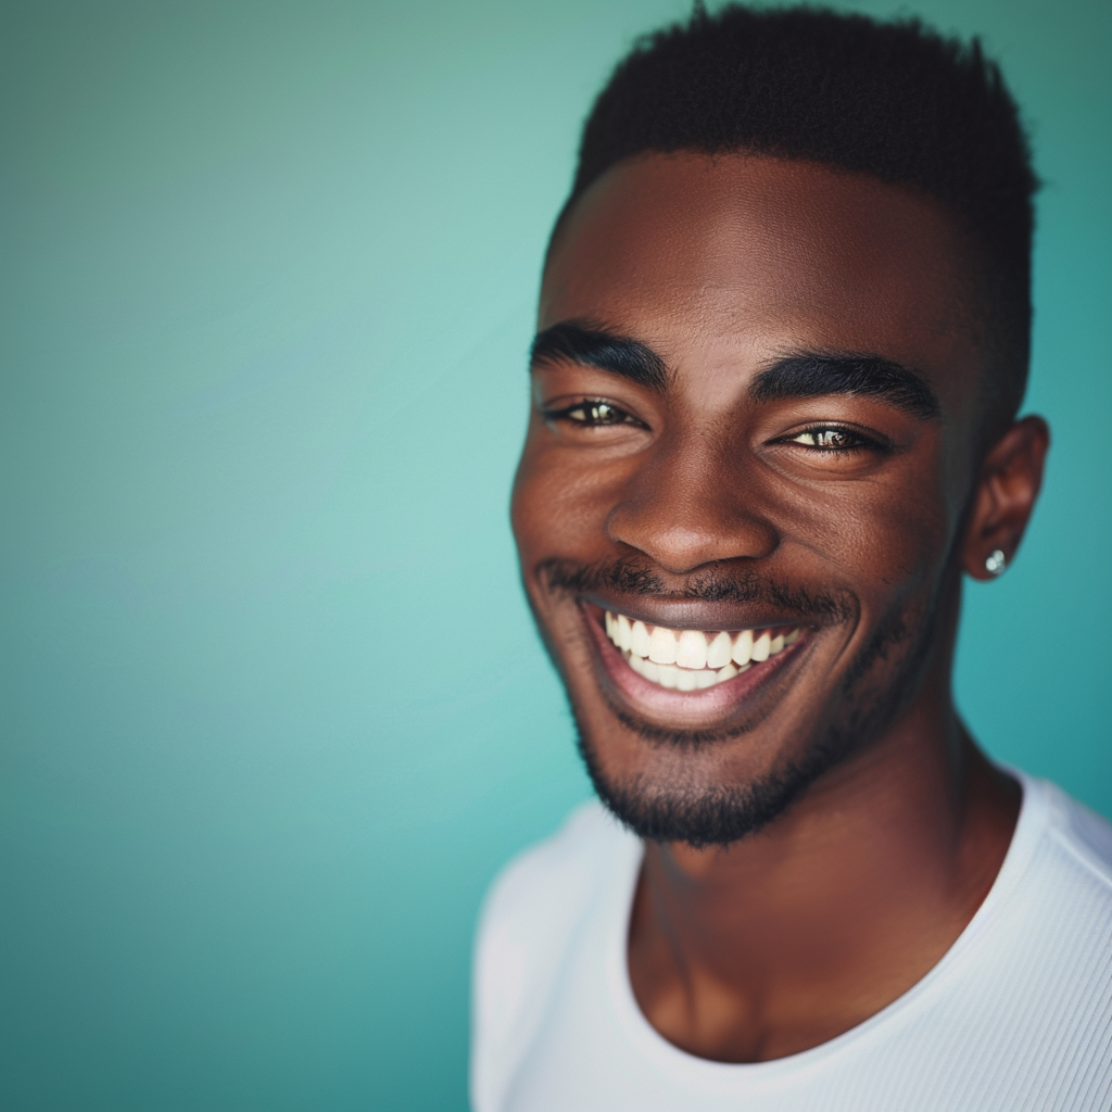
<path id="1" fill-rule="evenodd" d="M 777 359 L 749 386 L 754 401 L 848 394 L 876 398 L 932 420 L 942 411 L 934 390 L 913 370 L 875 355 L 802 351 Z"/>

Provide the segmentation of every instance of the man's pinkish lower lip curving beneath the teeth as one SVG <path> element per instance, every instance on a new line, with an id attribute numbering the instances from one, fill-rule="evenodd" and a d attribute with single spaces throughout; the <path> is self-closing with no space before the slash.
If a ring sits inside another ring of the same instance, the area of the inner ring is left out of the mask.
<path id="1" fill-rule="evenodd" d="M 625 662 L 617 646 L 606 636 L 602 625 L 596 620 L 593 604 L 583 604 L 584 620 L 594 637 L 595 646 L 603 662 L 607 678 L 623 696 L 623 701 L 654 717 L 679 722 L 696 721 L 701 723 L 722 719 L 738 705 L 747 702 L 758 687 L 772 678 L 787 661 L 798 654 L 806 643 L 806 632 L 794 645 L 780 651 L 759 664 L 751 665 L 745 672 L 733 679 L 704 687 L 702 691 L 681 692 L 654 684 L 651 679 L 637 675 Z M 600 614 L 602 612 L 599 612 Z"/>

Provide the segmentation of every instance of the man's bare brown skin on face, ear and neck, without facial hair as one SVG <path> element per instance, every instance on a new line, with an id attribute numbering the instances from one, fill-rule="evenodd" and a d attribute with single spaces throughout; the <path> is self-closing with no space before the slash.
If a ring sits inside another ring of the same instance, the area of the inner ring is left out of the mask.
<path id="1" fill-rule="evenodd" d="M 618 165 L 549 256 L 540 329 L 594 322 L 649 346 L 666 371 L 663 389 L 570 358 L 533 371 L 513 523 L 598 774 L 664 794 L 745 788 L 832 731 L 854 738 L 758 833 L 646 844 L 631 983 L 649 1023 L 692 1054 L 783 1058 L 875 1014 L 953 944 L 1006 853 L 1020 790 L 962 725 L 951 662 L 962 572 L 987 579 L 991 552 L 1014 556 L 1049 436 L 1039 418 L 984 411 L 971 272 L 931 199 L 742 155 Z M 754 400 L 756 376 L 801 350 L 913 368 L 939 416 L 860 394 Z M 550 416 L 585 399 L 629 420 Z M 865 446 L 821 450 L 806 443 L 820 427 Z M 552 560 L 632 560 L 659 589 L 552 589 Z M 594 605 L 673 628 L 791 624 L 767 599 L 688 597 L 699 577 L 749 573 L 834 593 L 843 609 L 810 622 L 771 679 L 713 706 L 649 705 L 615 684 Z M 903 633 L 870 656 L 886 629 Z M 654 742 L 646 727 L 715 739 Z"/>

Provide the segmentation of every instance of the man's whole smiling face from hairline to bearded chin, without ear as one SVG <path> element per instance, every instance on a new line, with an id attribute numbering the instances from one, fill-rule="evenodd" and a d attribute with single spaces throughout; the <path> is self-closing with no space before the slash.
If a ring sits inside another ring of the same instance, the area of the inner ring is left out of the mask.
<path id="1" fill-rule="evenodd" d="M 932 201 L 768 158 L 619 165 L 562 229 L 513 522 L 643 835 L 758 827 L 949 661 L 971 514 L 995 543 L 969 272 Z"/>

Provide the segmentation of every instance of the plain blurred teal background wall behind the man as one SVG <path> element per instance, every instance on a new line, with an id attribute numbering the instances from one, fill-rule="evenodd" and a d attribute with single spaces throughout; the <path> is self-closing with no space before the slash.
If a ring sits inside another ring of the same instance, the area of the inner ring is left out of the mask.
<path id="1" fill-rule="evenodd" d="M 506 515 L 540 254 L 686 8 L 2 4 L 8 1112 L 465 1106 L 481 892 L 588 792 Z M 915 10 L 1046 179 L 1054 448 L 960 698 L 1109 814 L 1112 6 Z"/>

